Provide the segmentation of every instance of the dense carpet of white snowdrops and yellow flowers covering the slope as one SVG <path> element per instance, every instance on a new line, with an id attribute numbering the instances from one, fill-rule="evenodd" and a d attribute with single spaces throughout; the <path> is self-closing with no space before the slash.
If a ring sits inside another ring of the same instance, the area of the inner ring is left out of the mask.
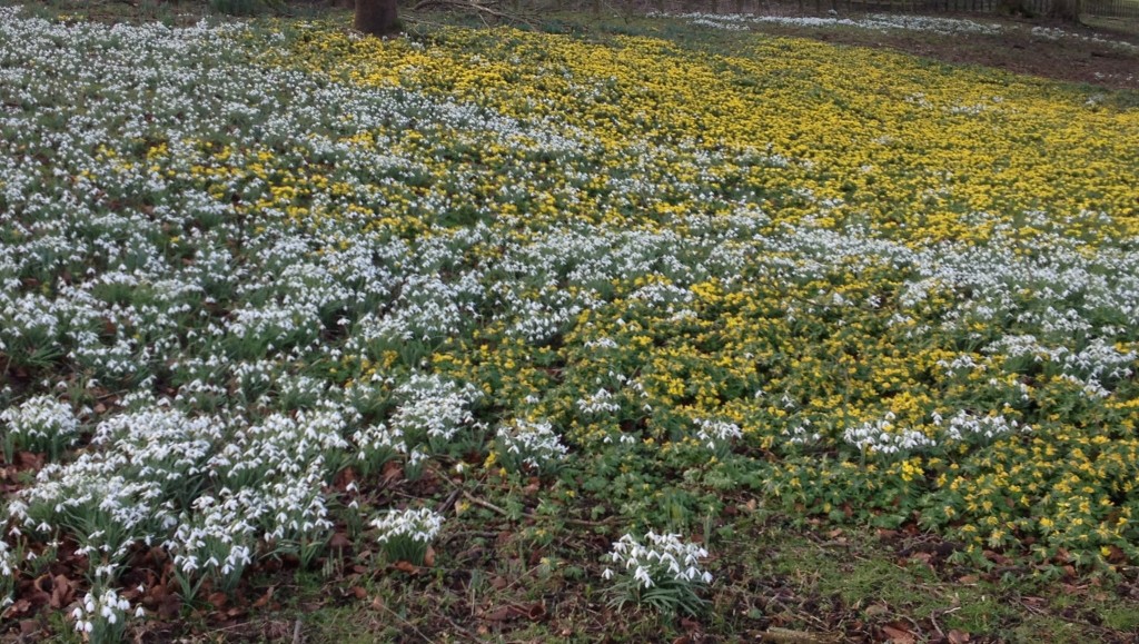
<path id="1" fill-rule="evenodd" d="M 1133 92 L 730 44 L 0 9 L 6 628 L 1136 628 Z"/>

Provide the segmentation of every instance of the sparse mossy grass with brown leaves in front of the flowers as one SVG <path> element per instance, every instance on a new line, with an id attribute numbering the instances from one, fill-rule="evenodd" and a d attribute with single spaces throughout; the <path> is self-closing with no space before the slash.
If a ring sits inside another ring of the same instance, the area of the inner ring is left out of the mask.
<path id="1" fill-rule="evenodd" d="M 1134 628 L 1133 609 L 1118 605 L 1107 590 L 1077 589 L 1070 595 L 1071 589 L 1059 586 L 977 579 L 964 568 L 934 570 L 920 559 L 900 556 L 899 544 L 861 530 L 823 540 L 818 532 L 776 517 L 738 528 L 756 538 L 721 544 L 719 568 L 732 572 L 727 581 L 730 587 L 714 595 L 707 621 L 700 621 L 699 629 L 710 635 L 749 638 L 781 628 L 811 634 L 817 642 L 839 642 L 877 639 L 883 627 L 896 627 L 917 641 L 936 639 L 941 629 L 974 637 L 999 634 L 1010 642 L 1122 642 L 1123 634 Z M 592 622 L 615 617 L 605 616 L 601 602 L 567 601 L 573 595 L 588 596 L 588 590 L 559 574 L 542 580 L 494 564 L 469 573 L 466 584 L 450 586 L 403 577 L 369 585 L 357 608 L 308 613 L 305 637 L 353 642 L 359 629 L 370 628 L 366 638 L 416 638 L 418 628 L 425 635 L 450 633 L 461 641 L 459 628 L 467 628 L 490 641 L 590 642 L 600 633 Z M 493 579 L 518 582 L 499 590 Z M 497 617 L 497 608 L 541 598 L 547 602 L 547 617 L 541 621 L 530 623 L 521 616 L 487 619 Z M 472 613 L 473 605 L 490 610 Z M 449 619 L 462 626 L 449 625 Z M 377 630 L 376 621 L 392 625 L 392 630 Z M 609 630 L 618 642 L 671 641 L 686 633 L 678 623 L 654 620 Z"/>

